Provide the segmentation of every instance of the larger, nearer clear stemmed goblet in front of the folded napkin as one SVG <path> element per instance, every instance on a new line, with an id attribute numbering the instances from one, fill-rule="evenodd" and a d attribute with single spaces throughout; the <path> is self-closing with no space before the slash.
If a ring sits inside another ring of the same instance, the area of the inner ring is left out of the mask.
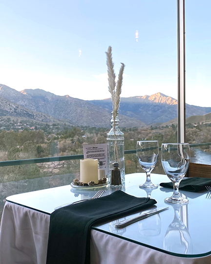
<path id="1" fill-rule="evenodd" d="M 163 143 L 161 161 L 166 175 L 173 183 L 173 195 L 164 199 L 167 203 L 188 203 L 179 193 L 179 184 L 186 175 L 190 164 L 189 143 Z"/>

